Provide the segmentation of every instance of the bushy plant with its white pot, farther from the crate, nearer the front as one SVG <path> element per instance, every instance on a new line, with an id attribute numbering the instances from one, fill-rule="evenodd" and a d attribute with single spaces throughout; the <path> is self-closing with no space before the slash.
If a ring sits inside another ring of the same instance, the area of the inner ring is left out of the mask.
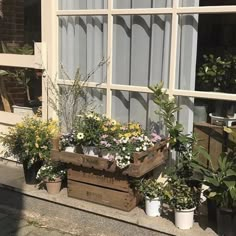
<path id="1" fill-rule="evenodd" d="M 194 210 L 198 204 L 198 190 L 182 180 L 169 180 L 164 188 L 164 201 L 174 209 L 175 225 L 190 229 L 194 222 Z"/>

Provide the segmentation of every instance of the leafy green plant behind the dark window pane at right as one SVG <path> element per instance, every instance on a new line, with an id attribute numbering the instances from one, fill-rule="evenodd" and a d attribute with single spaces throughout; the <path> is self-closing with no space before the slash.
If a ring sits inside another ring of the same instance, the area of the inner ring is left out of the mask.
<path id="1" fill-rule="evenodd" d="M 236 56 L 226 54 L 215 56 L 203 55 L 204 62 L 199 65 L 196 89 L 200 91 L 214 91 L 234 93 L 236 89 Z M 233 117 L 234 102 L 217 101 L 211 116 Z"/>

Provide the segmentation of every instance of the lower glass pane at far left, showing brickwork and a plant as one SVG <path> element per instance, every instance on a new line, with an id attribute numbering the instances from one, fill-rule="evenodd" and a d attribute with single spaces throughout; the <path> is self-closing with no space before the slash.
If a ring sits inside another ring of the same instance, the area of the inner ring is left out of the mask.
<path id="1" fill-rule="evenodd" d="M 0 67 L 0 73 L 0 110 L 20 115 L 34 114 L 42 105 L 42 73 L 12 67 Z"/>

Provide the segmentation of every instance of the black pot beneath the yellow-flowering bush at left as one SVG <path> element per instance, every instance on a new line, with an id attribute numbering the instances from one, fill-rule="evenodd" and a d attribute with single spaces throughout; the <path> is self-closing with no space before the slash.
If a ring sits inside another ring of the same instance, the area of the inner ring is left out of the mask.
<path id="1" fill-rule="evenodd" d="M 41 161 L 37 161 L 33 163 L 29 168 L 28 168 L 28 162 L 23 162 L 23 169 L 24 169 L 24 175 L 25 175 L 25 182 L 26 184 L 37 184 L 39 181 L 36 179 L 38 170 L 42 166 Z"/>

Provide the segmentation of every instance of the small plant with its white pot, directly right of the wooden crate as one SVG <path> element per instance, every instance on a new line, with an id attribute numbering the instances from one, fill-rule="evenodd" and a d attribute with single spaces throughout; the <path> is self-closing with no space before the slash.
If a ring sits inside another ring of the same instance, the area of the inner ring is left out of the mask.
<path id="1" fill-rule="evenodd" d="M 145 196 L 145 211 L 148 216 L 161 215 L 163 183 L 157 179 L 141 179 L 136 189 Z"/>

